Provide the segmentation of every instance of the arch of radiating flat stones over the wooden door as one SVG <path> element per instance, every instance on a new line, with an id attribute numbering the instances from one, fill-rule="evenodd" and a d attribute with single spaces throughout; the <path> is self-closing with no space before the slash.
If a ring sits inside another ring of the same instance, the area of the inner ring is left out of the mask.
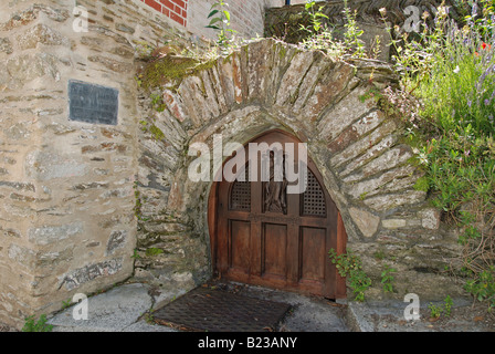
<path id="1" fill-rule="evenodd" d="M 207 210 L 212 181 L 188 181 L 192 157 L 187 150 L 193 143 L 212 147 L 214 134 L 222 134 L 224 144 L 244 144 L 278 128 L 306 142 L 341 212 L 348 244 L 371 244 L 367 257 L 377 241 L 399 237 L 407 243 L 401 230 L 438 228 L 434 212 L 425 209 L 425 194 L 413 188 L 421 173 L 408 163 L 412 153 L 400 142 L 400 123 L 370 94 L 393 82 L 386 63 L 334 61 L 272 39 L 166 82 L 159 91 L 166 108 L 154 113 L 167 142 L 161 149 L 175 159 L 162 206 L 180 215 L 178 222 L 203 248 L 201 274 L 211 266 Z"/>

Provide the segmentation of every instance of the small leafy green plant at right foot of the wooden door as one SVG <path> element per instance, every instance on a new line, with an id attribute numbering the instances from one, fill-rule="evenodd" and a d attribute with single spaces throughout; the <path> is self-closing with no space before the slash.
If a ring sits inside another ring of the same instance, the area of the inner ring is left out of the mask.
<path id="1" fill-rule="evenodd" d="M 328 251 L 331 263 L 343 278 L 348 278 L 349 288 L 352 289 L 356 301 L 365 301 L 365 292 L 371 287 L 371 279 L 362 270 L 361 260 L 351 250 L 337 254 L 334 249 Z"/>

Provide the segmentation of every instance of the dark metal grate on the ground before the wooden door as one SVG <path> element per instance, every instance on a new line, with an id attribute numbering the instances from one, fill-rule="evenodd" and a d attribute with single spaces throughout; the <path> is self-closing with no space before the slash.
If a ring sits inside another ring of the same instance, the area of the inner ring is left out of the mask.
<path id="1" fill-rule="evenodd" d="M 154 313 L 158 324 L 186 331 L 266 332 L 276 330 L 289 304 L 197 288 Z"/>

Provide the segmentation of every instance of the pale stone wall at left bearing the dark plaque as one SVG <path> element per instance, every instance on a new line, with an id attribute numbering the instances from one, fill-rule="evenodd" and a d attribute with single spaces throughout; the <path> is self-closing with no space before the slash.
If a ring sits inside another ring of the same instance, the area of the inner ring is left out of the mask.
<path id="1" fill-rule="evenodd" d="M 140 1 L 0 3 L 0 321 L 133 274 L 135 52 L 182 34 Z M 117 125 L 70 121 L 69 80 L 118 90 Z"/>

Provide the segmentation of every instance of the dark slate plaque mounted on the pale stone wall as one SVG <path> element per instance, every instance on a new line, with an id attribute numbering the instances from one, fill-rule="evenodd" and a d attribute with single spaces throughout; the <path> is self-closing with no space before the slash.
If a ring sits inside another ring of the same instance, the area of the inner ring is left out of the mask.
<path id="1" fill-rule="evenodd" d="M 116 125 L 118 90 L 82 81 L 69 81 L 69 119 Z"/>

